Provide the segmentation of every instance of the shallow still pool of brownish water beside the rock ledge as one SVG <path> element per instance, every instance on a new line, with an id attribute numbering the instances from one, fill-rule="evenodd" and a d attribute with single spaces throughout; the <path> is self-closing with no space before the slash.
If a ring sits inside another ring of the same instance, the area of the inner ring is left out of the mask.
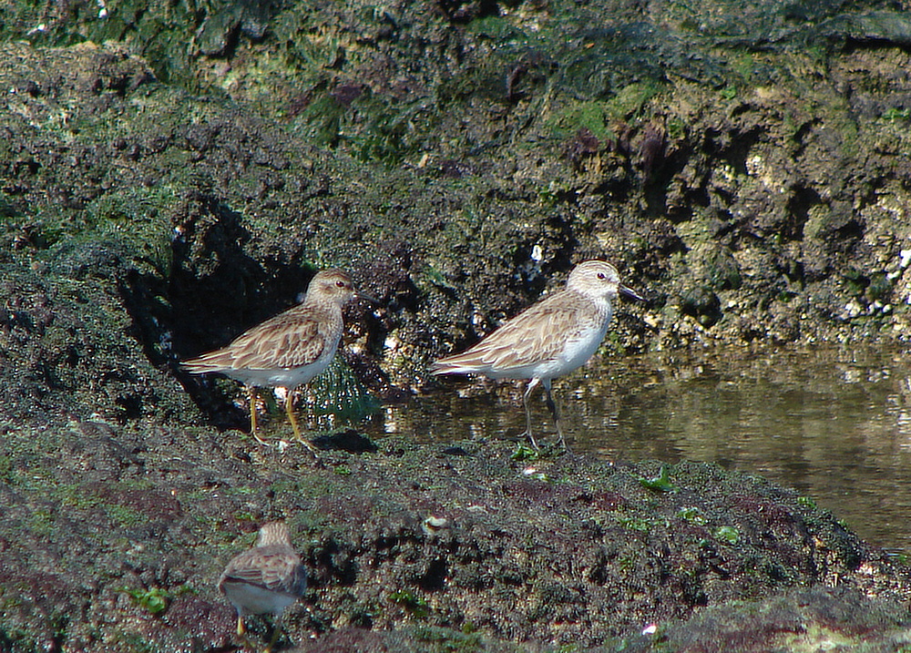
<path id="1" fill-rule="evenodd" d="M 425 441 L 515 437 L 521 386 L 470 382 L 384 407 L 367 431 Z M 460 397 L 471 388 L 475 396 Z M 494 392 L 499 388 L 498 392 Z M 878 546 L 911 554 L 911 354 L 819 348 L 606 356 L 554 383 L 574 450 L 698 460 L 796 488 Z M 534 423 L 553 434 L 540 393 Z"/>

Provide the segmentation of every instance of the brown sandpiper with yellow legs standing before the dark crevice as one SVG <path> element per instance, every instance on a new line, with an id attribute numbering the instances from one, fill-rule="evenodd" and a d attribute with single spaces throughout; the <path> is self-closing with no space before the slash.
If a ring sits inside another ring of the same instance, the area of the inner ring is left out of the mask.
<path id="1" fill-rule="evenodd" d="M 284 388 L 285 413 L 294 437 L 312 449 L 293 413 L 293 393 L 302 383 L 326 369 L 342 339 L 342 307 L 353 299 L 372 298 L 354 290 L 341 270 L 318 272 L 302 303 L 241 333 L 228 346 L 184 361 L 181 367 L 193 374 L 220 372 L 247 386 L 250 393 L 250 431 L 257 442 L 256 389 Z"/>

